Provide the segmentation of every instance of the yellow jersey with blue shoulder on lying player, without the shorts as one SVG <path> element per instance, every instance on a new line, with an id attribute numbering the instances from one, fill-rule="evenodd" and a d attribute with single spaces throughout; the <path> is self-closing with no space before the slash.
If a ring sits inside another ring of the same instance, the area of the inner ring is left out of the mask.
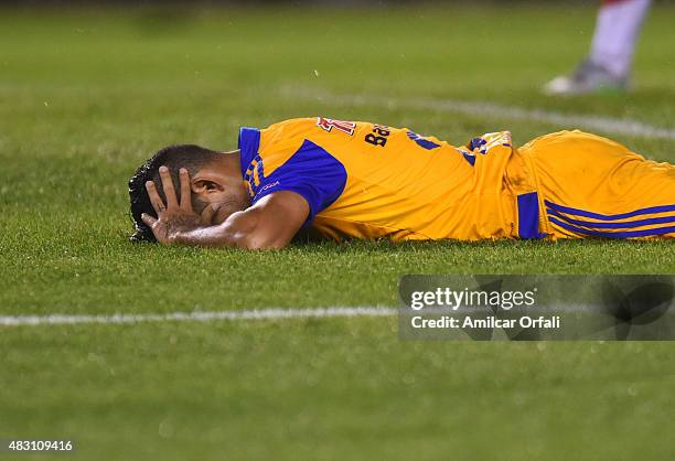
<path id="1" fill-rule="evenodd" d="M 308 225 L 333 239 L 519 236 L 503 181 L 508 132 L 454 147 L 407 128 L 315 117 L 242 128 L 239 150 L 253 203 L 297 192 L 310 205 Z"/>

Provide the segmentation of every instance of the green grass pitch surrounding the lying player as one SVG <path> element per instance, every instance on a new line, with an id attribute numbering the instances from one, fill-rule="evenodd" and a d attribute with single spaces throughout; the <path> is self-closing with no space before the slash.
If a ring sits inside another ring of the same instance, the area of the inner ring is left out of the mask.
<path id="1" fill-rule="evenodd" d="M 633 94 L 538 93 L 586 52 L 593 19 L 483 3 L 2 10 L 0 315 L 396 305 L 404 274 L 675 274 L 675 248 L 658 243 L 126 240 L 135 168 L 170 143 L 234 148 L 240 125 L 322 115 L 456 143 L 576 128 L 400 104 L 421 97 L 673 127 L 667 4 L 646 23 Z M 612 137 L 675 162 L 674 140 Z M 58 460 L 665 460 L 674 352 L 400 342 L 394 318 L 0 328 L 0 437 L 74 439 Z"/>

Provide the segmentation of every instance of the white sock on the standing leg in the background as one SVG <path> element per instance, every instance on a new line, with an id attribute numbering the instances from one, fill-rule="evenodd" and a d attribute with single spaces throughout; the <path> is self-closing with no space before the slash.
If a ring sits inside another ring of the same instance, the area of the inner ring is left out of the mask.
<path id="1" fill-rule="evenodd" d="M 593 63 L 618 77 L 626 77 L 630 74 L 640 29 L 651 2 L 652 0 L 603 1 L 591 45 L 590 58 Z"/>

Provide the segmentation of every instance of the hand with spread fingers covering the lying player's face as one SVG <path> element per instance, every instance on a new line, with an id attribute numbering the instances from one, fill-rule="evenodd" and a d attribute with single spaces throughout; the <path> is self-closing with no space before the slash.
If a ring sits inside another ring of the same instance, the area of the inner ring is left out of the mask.
<path id="1" fill-rule="evenodd" d="M 179 178 L 181 181 L 181 201 L 178 201 L 173 181 L 171 180 L 170 171 L 167 167 L 160 167 L 160 179 L 162 180 L 162 190 L 167 203 L 162 201 L 157 192 L 157 185 L 153 181 L 146 183 L 146 190 L 150 197 L 150 203 L 157 213 L 157 218 L 143 213 L 141 218 L 152 229 L 157 240 L 164 245 L 175 243 L 176 237 L 181 232 L 193 230 L 199 227 L 208 226 L 212 224 L 215 208 L 206 206 L 200 215 L 192 210 L 192 189 L 190 186 L 190 174 L 188 170 L 181 168 Z"/>

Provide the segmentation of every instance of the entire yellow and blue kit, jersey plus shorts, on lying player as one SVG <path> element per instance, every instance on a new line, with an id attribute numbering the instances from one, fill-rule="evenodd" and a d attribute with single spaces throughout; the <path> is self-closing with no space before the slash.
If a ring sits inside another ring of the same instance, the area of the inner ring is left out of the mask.
<path id="1" fill-rule="evenodd" d="M 452 146 L 324 117 L 239 131 L 251 203 L 302 195 L 321 235 L 420 239 L 672 238 L 675 167 L 581 131 L 521 149 L 508 131 Z"/>

